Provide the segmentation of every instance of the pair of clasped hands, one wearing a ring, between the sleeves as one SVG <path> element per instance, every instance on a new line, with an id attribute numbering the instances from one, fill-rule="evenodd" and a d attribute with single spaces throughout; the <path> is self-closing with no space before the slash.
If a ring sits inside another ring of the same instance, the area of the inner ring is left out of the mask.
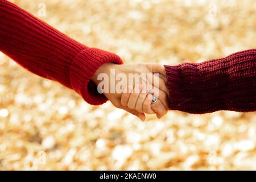
<path id="1" fill-rule="evenodd" d="M 166 71 L 156 63 L 106 63 L 94 74 L 98 93 L 103 93 L 115 107 L 144 121 L 145 114 L 159 119 L 169 110 Z"/>

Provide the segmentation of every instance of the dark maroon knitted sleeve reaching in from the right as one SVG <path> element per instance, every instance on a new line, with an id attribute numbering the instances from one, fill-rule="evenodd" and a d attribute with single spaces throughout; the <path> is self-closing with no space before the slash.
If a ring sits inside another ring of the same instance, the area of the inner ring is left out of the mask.
<path id="1" fill-rule="evenodd" d="M 256 111 L 256 49 L 165 67 L 172 110 L 198 114 Z"/>

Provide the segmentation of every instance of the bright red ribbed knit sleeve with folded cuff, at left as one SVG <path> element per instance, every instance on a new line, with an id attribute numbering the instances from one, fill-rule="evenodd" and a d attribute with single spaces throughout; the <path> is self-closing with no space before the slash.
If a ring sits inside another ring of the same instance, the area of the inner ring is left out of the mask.
<path id="1" fill-rule="evenodd" d="M 86 47 L 11 2 L 0 0 L 0 51 L 36 75 L 75 90 L 86 102 L 107 101 L 91 81 L 104 63 L 122 64 L 115 54 Z"/>

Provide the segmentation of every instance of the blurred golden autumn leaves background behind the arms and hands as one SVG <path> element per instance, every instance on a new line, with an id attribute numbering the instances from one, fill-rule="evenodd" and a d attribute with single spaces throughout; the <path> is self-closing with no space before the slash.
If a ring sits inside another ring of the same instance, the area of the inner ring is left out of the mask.
<path id="1" fill-rule="evenodd" d="M 256 47 L 254 0 L 11 2 L 125 63 L 175 65 Z M 255 113 L 170 111 L 140 122 L 109 102 L 86 104 L 1 52 L 0 67 L 1 170 L 256 169 Z"/>

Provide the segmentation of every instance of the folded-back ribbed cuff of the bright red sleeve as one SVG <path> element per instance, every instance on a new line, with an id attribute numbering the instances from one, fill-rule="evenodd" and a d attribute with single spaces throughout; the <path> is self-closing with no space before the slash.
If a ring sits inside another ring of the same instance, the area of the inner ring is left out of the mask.
<path id="1" fill-rule="evenodd" d="M 97 85 L 91 80 L 97 69 L 104 63 L 122 64 L 123 62 L 114 53 L 97 48 L 84 49 L 72 61 L 69 72 L 72 88 L 88 104 L 101 105 L 108 101 L 104 94 L 98 93 Z"/>

